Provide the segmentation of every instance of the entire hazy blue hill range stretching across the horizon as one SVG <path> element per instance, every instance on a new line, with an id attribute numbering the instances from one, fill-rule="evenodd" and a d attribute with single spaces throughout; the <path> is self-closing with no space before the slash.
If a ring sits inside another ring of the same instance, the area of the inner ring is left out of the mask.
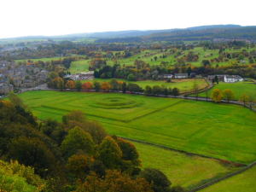
<path id="1" fill-rule="evenodd" d="M 164 30 L 130 30 L 118 32 L 90 32 L 78 33 L 62 36 L 32 36 L 23 38 L 8 38 L 4 40 L 78 40 L 81 38 L 93 38 L 97 43 L 114 42 L 143 42 L 143 41 L 194 41 L 212 39 L 244 39 L 256 41 L 256 26 L 239 25 L 213 25 L 194 26 L 184 29 L 164 29 Z M 0 41 L 3 41 L 0 40 Z"/>

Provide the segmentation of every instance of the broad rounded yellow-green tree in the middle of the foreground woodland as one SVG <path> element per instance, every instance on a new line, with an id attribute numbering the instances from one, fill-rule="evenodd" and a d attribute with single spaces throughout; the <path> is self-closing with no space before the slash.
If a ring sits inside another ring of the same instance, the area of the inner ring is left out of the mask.
<path id="1" fill-rule="evenodd" d="M 95 146 L 88 132 L 79 127 L 68 131 L 67 137 L 61 143 L 61 150 L 65 157 L 73 154 L 94 154 Z"/>

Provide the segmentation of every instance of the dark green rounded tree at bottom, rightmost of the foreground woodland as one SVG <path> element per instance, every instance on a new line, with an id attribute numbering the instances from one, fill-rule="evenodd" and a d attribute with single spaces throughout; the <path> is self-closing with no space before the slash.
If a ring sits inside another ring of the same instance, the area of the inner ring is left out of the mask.
<path id="1" fill-rule="evenodd" d="M 154 192 L 170 191 L 172 183 L 163 172 L 157 169 L 147 168 L 140 173 L 140 177 L 145 178 L 148 183 L 153 184 Z"/>

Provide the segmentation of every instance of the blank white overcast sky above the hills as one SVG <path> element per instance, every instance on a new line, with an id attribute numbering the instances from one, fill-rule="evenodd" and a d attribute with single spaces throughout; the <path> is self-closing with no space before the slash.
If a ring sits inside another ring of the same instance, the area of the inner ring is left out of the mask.
<path id="1" fill-rule="evenodd" d="M 0 38 L 256 26 L 255 0 L 0 0 Z"/>

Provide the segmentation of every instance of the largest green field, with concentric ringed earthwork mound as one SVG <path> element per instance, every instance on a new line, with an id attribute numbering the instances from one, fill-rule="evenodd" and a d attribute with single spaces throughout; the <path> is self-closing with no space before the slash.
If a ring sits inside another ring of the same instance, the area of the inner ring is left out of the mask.
<path id="1" fill-rule="evenodd" d="M 256 113 L 230 104 L 118 93 L 29 91 L 20 94 L 39 119 L 74 109 L 110 134 L 249 163 L 256 159 Z"/>

